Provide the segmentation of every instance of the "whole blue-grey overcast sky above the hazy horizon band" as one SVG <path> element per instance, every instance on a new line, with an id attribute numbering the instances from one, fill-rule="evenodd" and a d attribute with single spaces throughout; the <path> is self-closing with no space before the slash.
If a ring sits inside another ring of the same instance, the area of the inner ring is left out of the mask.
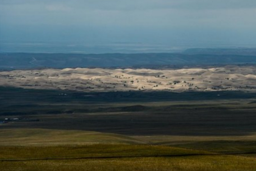
<path id="1" fill-rule="evenodd" d="M 256 0 L 0 0 L 0 41 L 256 47 Z"/>

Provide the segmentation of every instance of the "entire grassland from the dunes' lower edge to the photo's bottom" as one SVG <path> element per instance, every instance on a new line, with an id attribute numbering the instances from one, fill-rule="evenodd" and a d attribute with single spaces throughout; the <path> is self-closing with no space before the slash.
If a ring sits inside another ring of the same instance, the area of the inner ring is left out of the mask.
<path id="1" fill-rule="evenodd" d="M 0 170 L 254 171 L 256 95 L 218 94 L 0 88 Z"/>

